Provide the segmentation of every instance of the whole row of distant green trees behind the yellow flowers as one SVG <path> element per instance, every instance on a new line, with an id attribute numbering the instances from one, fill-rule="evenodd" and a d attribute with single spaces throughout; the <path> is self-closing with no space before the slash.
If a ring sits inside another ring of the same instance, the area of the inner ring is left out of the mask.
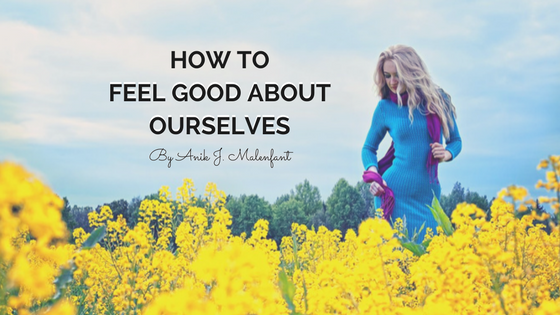
<path id="1" fill-rule="evenodd" d="M 157 193 L 135 197 L 130 202 L 120 199 L 105 203 L 113 211 L 116 218 L 122 215 L 129 227 L 134 227 L 138 222 L 138 213 L 142 200 L 158 199 Z M 70 231 L 75 228 L 83 228 L 86 232 L 92 229 L 88 224 L 88 213 L 99 211 L 104 205 L 95 209 L 92 207 L 79 207 L 70 205 L 69 200 L 64 197 L 65 206 L 62 211 L 62 219 L 66 222 Z M 201 198 L 199 198 L 201 199 Z M 476 192 L 465 189 L 457 182 L 448 195 L 442 195 L 440 203 L 446 214 L 451 217 L 452 211 L 461 202 L 473 203 L 480 209 L 486 211 L 490 216 L 492 200 Z M 328 229 L 338 229 L 342 235 L 348 229 L 357 231 L 360 223 L 368 217 L 375 216 L 373 196 L 369 192 L 369 184 L 358 182 L 351 185 L 345 179 L 340 179 L 334 186 L 330 196 L 323 201 L 319 189 L 306 179 L 296 185 L 289 193 L 276 198 L 270 203 L 256 194 L 232 196 L 226 199 L 226 208 L 232 216 L 231 231 L 234 235 L 245 233 L 251 235 L 254 224 L 259 219 L 269 222 L 268 237 L 280 243 L 284 236 L 291 234 L 292 223 L 305 224 L 308 228 L 317 229 L 325 226 Z M 544 211 L 537 206 L 537 212 Z"/>

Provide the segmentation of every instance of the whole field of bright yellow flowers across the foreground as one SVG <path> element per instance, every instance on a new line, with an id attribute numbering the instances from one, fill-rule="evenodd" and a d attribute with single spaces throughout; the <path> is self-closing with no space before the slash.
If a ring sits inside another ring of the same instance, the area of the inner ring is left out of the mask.
<path id="1" fill-rule="evenodd" d="M 556 196 L 539 202 L 558 213 L 560 156 L 539 168 Z M 210 183 L 202 198 L 185 180 L 144 200 L 133 229 L 105 206 L 91 235 L 70 232 L 63 201 L 1 163 L 0 314 L 560 314 L 559 228 L 533 224 L 522 187 L 501 191 L 489 220 L 460 204 L 453 234 L 429 233 L 421 256 L 379 218 L 344 237 L 294 224 L 280 246 L 264 220 L 233 236 L 224 192 Z"/>

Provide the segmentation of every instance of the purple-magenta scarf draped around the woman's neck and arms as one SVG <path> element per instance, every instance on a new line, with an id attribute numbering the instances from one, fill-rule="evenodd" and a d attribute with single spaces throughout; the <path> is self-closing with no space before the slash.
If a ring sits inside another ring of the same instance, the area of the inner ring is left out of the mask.
<path id="1" fill-rule="evenodd" d="M 391 101 L 393 101 L 393 103 L 398 104 L 397 94 L 393 93 L 392 91 L 389 91 L 389 96 L 391 98 Z M 408 93 L 405 92 L 404 94 L 401 94 L 401 100 L 403 106 L 408 106 Z M 441 137 L 441 122 L 439 120 L 439 117 L 436 114 L 430 113 L 426 117 L 426 120 L 428 123 L 428 134 L 430 135 L 432 142 L 439 142 L 439 139 Z M 371 183 L 375 181 L 385 190 L 385 193 L 381 195 L 381 200 L 382 200 L 381 208 L 383 209 L 383 218 L 386 219 L 387 221 L 389 220 L 391 214 L 393 213 L 393 208 L 395 206 L 395 195 L 389 187 L 383 185 L 383 178 L 381 178 L 381 175 L 383 175 L 383 173 L 385 173 L 385 171 L 391 165 L 393 165 L 394 158 L 395 158 L 395 147 L 394 147 L 394 142 L 391 142 L 391 147 L 389 147 L 389 150 L 387 150 L 385 156 L 378 162 L 377 171 L 379 172 L 379 174 L 372 171 L 365 171 L 362 176 L 364 182 Z M 426 162 L 426 169 L 428 171 L 430 183 L 434 183 L 434 182 L 438 183 L 438 178 L 437 178 L 438 163 L 439 161 L 436 158 L 434 158 L 432 154 L 432 150 L 430 150 L 430 152 L 428 153 L 428 161 Z"/>

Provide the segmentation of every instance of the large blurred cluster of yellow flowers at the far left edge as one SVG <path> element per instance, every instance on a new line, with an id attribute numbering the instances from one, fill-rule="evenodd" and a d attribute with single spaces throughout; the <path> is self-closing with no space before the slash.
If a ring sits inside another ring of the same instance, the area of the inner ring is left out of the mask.
<path id="1" fill-rule="evenodd" d="M 68 300 L 50 305 L 54 279 L 73 248 L 63 201 L 21 166 L 0 163 L 0 314 L 73 314 Z M 44 306 L 44 307 L 43 307 Z"/>

